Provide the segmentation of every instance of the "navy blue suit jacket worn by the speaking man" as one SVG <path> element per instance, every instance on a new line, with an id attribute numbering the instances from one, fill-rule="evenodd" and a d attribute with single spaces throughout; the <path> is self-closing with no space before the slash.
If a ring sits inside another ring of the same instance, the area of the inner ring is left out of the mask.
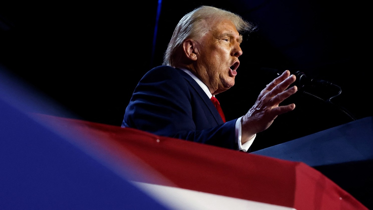
<path id="1" fill-rule="evenodd" d="M 223 123 L 210 98 L 183 70 L 158 66 L 135 88 L 122 127 L 238 149 L 236 120 Z"/>

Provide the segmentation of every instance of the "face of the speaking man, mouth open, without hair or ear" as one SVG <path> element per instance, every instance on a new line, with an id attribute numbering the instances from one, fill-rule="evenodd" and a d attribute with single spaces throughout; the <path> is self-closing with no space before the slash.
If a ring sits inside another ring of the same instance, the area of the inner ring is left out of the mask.
<path id="1" fill-rule="evenodd" d="M 228 20 L 214 22 L 211 31 L 198 42 L 197 74 L 213 95 L 234 85 L 241 42 L 242 36 Z"/>

